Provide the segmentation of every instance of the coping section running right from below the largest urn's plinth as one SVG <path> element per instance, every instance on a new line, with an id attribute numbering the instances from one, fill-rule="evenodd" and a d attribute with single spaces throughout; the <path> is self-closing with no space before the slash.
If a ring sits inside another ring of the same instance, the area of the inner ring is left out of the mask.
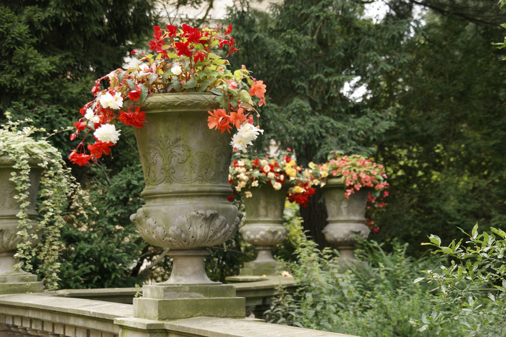
<path id="1" fill-rule="evenodd" d="M 160 330 L 184 336 L 202 337 L 352 337 L 348 334 L 264 323 L 251 318 L 194 317 L 174 321 L 117 318 L 114 323 L 138 330 Z"/>

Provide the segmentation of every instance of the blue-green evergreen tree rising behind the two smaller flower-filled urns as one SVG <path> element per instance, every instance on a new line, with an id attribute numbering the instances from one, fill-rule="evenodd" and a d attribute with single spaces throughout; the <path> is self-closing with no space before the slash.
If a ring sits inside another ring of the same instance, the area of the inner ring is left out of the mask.
<path id="1" fill-rule="evenodd" d="M 384 76 L 409 62 L 402 41 L 411 27 L 410 8 L 379 24 L 364 18 L 364 4 L 354 0 L 292 0 L 271 10 L 257 12 L 243 2 L 229 18 L 241 42 L 231 63 L 247 64 L 267 84 L 270 98 L 260 117 L 265 132 L 257 152 L 274 138 L 291 147 L 302 165 L 325 162 L 335 150 L 371 155 L 395 124 L 392 99 L 383 96 L 372 105 L 365 95 L 356 102 L 342 88 L 355 79 L 355 88 L 388 90 Z M 310 236 L 328 246 L 320 191 L 301 215 Z"/>

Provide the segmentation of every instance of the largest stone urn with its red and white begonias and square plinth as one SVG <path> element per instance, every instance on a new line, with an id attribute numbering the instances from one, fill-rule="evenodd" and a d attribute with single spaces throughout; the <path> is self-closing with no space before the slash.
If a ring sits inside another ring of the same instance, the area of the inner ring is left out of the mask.
<path id="1" fill-rule="evenodd" d="M 73 137 L 90 129 L 97 141 L 87 146 L 90 154 L 81 141 L 69 159 L 86 164 L 107 155 L 119 140 L 116 122 L 134 127 L 146 204 L 131 220 L 145 241 L 170 249 L 173 261 L 168 280 L 143 286 L 134 317 L 243 318 L 244 298 L 235 297 L 234 285 L 209 280 L 204 258 L 206 247 L 234 235 L 242 217 L 228 200 L 228 168 L 232 151 L 246 152 L 263 132 L 254 117 L 255 106 L 265 104 L 266 86 L 244 66 L 231 72 L 213 53 L 237 50 L 231 26 L 154 28 L 154 56 L 133 51 L 142 65 L 116 69 L 95 83 L 95 99 L 81 109 Z"/>

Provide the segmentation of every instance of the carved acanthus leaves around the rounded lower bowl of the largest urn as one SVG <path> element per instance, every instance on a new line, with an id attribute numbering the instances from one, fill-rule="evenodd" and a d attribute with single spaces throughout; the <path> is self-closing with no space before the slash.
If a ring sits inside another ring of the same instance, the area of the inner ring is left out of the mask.
<path id="1" fill-rule="evenodd" d="M 234 235 L 241 218 L 242 214 L 237 213 L 235 222 L 229 226 L 227 219 L 217 211 L 190 212 L 188 216 L 177 218 L 167 234 L 155 219 L 148 218 L 144 213 L 135 213 L 130 217 L 144 240 L 173 249 L 219 245 Z"/>

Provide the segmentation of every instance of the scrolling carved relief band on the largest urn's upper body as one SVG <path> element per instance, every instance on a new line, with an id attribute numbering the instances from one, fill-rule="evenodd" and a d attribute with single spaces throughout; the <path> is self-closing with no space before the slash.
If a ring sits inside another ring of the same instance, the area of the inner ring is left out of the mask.
<path id="1" fill-rule="evenodd" d="M 230 162 L 231 154 L 224 141 L 220 139 L 221 144 L 216 145 L 210 155 L 203 151 L 192 155 L 191 147 L 180 144 L 181 140 L 182 137 L 171 140 L 165 134 L 161 134 L 158 139 L 149 139 L 150 159 L 141 156 L 146 185 L 227 182 L 227 163 Z M 178 172 L 182 174 L 177 174 Z"/>

